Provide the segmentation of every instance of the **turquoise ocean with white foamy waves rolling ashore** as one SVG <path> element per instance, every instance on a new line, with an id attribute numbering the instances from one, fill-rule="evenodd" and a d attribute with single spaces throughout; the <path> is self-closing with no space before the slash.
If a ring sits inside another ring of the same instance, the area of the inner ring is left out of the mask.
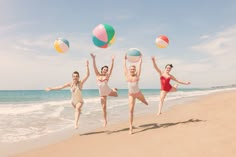
<path id="1" fill-rule="evenodd" d="M 164 110 L 198 96 L 232 89 L 235 88 L 179 89 L 168 94 Z M 127 89 L 120 89 L 118 97 L 108 97 L 108 125 L 128 120 L 127 92 Z M 134 116 L 157 112 L 160 90 L 142 89 L 142 92 L 149 106 L 137 100 Z M 102 127 L 103 118 L 98 90 L 84 89 L 82 93 L 85 103 L 76 132 L 86 133 Z M 39 139 L 65 130 L 74 132 L 74 109 L 70 98 L 69 90 L 0 90 L 0 144 Z"/>

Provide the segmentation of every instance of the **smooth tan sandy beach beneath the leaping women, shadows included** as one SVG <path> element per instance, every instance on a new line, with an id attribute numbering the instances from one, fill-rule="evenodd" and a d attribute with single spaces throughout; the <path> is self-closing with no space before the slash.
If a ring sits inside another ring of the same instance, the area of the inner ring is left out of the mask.
<path id="1" fill-rule="evenodd" d="M 132 135 L 128 121 L 123 121 L 13 156 L 234 157 L 235 103 L 235 90 L 211 93 L 172 106 L 160 116 L 134 115 Z"/>

